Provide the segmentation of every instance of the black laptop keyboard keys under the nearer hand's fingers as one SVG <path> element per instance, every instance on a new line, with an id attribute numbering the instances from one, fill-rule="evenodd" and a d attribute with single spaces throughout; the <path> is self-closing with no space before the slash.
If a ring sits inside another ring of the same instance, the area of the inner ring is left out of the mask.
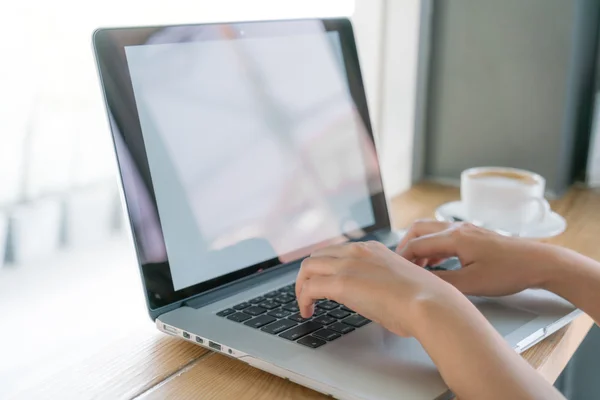
<path id="1" fill-rule="evenodd" d="M 315 302 L 315 313 L 310 318 L 302 318 L 299 311 L 295 285 L 291 284 L 226 308 L 217 315 L 312 349 L 371 322 L 331 300 Z"/>

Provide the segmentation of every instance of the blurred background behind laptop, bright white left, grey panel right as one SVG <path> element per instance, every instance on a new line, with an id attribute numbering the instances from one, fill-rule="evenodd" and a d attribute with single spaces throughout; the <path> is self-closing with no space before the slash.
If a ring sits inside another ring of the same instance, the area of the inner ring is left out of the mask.
<path id="1" fill-rule="evenodd" d="M 355 26 L 389 197 L 422 179 L 456 183 L 473 165 L 534 170 L 550 196 L 600 186 L 595 0 L 3 2 L 0 315 L 10 329 L 0 333 L 0 398 L 154 329 L 119 200 L 93 30 L 340 15 Z M 580 353 L 597 354 L 594 329 Z M 593 379 L 568 378 L 597 371 L 597 361 L 571 364 L 559 379 L 569 397 L 598 393 L 585 389 Z"/>

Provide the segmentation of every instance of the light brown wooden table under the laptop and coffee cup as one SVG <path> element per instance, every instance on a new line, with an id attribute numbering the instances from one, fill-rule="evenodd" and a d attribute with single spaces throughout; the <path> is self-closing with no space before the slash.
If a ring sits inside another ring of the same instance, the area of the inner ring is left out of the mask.
<path id="1" fill-rule="evenodd" d="M 455 188 L 420 184 L 395 198 L 397 228 L 431 217 L 435 208 L 458 198 Z M 572 189 L 553 209 L 565 216 L 567 231 L 550 242 L 600 261 L 600 192 Z M 151 325 L 150 321 L 148 324 Z M 592 326 L 588 316 L 523 354 L 548 381 L 554 382 Z M 328 397 L 246 364 L 150 329 L 131 335 L 83 364 L 67 368 L 18 398 L 97 399 L 327 399 Z"/>

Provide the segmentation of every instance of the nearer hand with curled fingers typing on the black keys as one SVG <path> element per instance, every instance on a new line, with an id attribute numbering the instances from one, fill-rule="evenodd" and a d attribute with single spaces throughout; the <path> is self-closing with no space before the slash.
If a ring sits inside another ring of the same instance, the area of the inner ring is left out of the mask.
<path id="1" fill-rule="evenodd" d="M 462 297 L 451 285 L 378 242 L 317 250 L 302 263 L 296 296 L 303 317 L 315 300 L 342 303 L 401 336 L 414 336 L 419 303 Z"/>

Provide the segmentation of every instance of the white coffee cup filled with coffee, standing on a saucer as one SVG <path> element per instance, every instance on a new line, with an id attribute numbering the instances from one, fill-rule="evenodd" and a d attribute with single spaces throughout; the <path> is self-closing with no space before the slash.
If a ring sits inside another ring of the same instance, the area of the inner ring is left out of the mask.
<path id="1" fill-rule="evenodd" d="M 462 172 L 460 194 L 468 221 L 518 234 L 550 213 L 546 180 L 530 171 L 479 167 Z"/>

